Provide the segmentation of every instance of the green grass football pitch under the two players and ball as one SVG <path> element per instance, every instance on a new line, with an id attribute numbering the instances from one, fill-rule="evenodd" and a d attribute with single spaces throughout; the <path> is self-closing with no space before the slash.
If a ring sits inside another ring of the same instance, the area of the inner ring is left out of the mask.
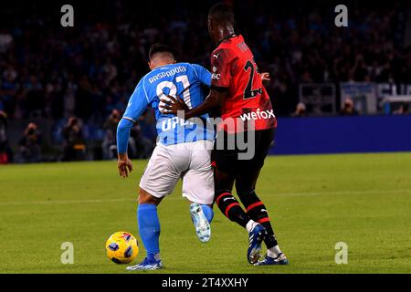
<path id="1" fill-rule="evenodd" d="M 104 244 L 116 231 L 138 237 L 146 162 L 133 163 L 127 180 L 115 162 L 1 166 L 0 273 L 126 273 Z M 246 231 L 217 208 L 211 241 L 200 243 L 180 190 L 159 206 L 165 269 L 154 273 L 411 272 L 411 153 L 269 157 L 257 191 L 289 266 L 250 266 Z M 73 265 L 61 264 L 64 242 Z M 335 263 L 338 242 L 346 265 Z"/>

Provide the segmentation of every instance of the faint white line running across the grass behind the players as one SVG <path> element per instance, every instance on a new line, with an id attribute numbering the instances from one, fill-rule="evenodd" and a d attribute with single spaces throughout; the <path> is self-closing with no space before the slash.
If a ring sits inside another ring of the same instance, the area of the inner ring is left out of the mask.
<path id="1" fill-rule="evenodd" d="M 339 191 L 339 192 L 318 192 L 318 193 L 274 193 L 278 196 L 317 196 L 317 195 L 343 195 L 343 194 L 365 194 L 365 193 L 411 193 L 409 190 L 366 190 L 366 191 Z M 179 199 L 181 196 L 168 197 L 166 200 Z M 136 202 L 137 198 L 107 199 L 107 200 L 67 200 L 67 201 L 31 201 L 31 202 L 0 202 L 0 206 L 7 205 L 32 205 L 32 204 L 69 204 L 69 203 L 116 203 L 116 202 Z"/>

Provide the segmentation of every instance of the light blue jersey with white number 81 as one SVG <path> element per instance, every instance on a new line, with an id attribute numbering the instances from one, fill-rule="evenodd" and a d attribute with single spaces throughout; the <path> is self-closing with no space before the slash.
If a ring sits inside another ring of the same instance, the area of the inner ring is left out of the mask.
<path id="1" fill-rule="evenodd" d="M 167 95 L 184 99 L 189 109 L 203 103 L 203 86 L 210 87 L 211 73 L 196 64 L 176 63 L 153 69 L 137 85 L 129 100 L 123 119 L 135 122 L 150 106 L 157 120 L 158 142 L 172 145 L 190 141 L 214 141 L 214 130 L 206 127 L 208 115 L 194 121 L 183 120 L 172 114 L 163 114 L 159 105 Z"/>

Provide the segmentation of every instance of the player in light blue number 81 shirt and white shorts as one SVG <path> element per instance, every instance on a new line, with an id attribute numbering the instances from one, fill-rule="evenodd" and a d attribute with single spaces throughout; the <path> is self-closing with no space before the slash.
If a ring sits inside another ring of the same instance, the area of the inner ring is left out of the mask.
<path id="1" fill-rule="evenodd" d="M 147 255 L 142 263 L 128 270 L 153 270 L 163 267 L 160 259 L 160 222 L 157 205 L 172 193 L 175 183 L 183 179 L 183 196 L 190 201 L 190 214 L 202 242 L 211 236 L 214 179 L 210 162 L 215 133 L 206 126 L 207 115 L 199 120 L 184 120 L 163 114 L 159 105 L 167 95 L 184 97 L 187 107 L 194 108 L 204 99 L 202 86 L 210 86 L 211 73 L 189 63 L 175 63 L 170 47 L 155 44 L 149 52 L 151 72 L 145 75 L 132 93 L 117 129 L 118 168 L 122 177 L 132 172 L 127 144 L 133 123 L 147 107 L 155 112 L 157 146 L 140 181 L 137 219 Z"/>

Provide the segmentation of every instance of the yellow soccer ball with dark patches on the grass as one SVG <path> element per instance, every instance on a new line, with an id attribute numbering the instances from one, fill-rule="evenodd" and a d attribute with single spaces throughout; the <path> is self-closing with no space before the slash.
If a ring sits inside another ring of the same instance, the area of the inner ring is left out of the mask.
<path id="1" fill-rule="evenodd" d="M 132 234 L 119 231 L 107 240 L 106 251 L 114 263 L 129 264 L 139 254 L 139 243 Z"/>

